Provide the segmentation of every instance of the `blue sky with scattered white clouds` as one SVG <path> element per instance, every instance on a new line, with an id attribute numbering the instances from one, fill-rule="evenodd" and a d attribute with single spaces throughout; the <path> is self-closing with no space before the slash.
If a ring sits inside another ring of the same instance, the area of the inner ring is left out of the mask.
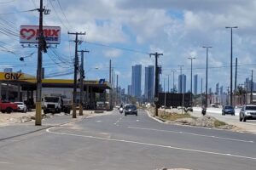
<path id="1" fill-rule="evenodd" d="M 86 32 L 79 50 L 84 54 L 86 79 L 108 80 L 109 59 L 112 59 L 119 85 L 131 84 L 131 66 L 154 65 L 150 53 L 162 53 L 160 82 L 172 70 L 183 66 L 190 87 L 190 60 L 193 75 L 206 82 L 209 49 L 208 87 L 230 86 L 230 29 L 233 30 L 233 64 L 238 59 L 237 84 L 251 76 L 256 65 L 256 1 L 255 0 L 44 0 L 50 14 L 44 15 L 44 26 L 61 26 L 61 43 L 48 48 L 43 56 L 45 77 L 73 78 L 74 36 L 67 32 Z M 22 25 L 38 25 L 39 0 L 0 0 L 0 71 L 11 67 L 36 75 L 37 48 L 21 47 L 19 31 Z M 20 61 L 24 57 L 24 61 Z M 235 67 L 233 76 L 235 75 Z M 177 85 L 177 74 L 175 77 Z M 255 78 L 253 78 L 255 79 Z M 199 89 L 201 85 L 199 82 Z M 166 83 L 167 84 L 167 83 Z M 167 88 L 167 87 L 166 87 Z M 203 85 L 203 91 L 205 85 Z M 142 87 L 143 91 L 143 87 Z"/>

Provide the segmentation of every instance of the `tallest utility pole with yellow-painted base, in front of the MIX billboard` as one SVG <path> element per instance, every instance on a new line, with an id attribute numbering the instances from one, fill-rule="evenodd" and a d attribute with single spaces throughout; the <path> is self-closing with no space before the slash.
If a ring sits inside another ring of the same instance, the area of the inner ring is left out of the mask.
<path id="1" fill-rule="evenodd" d="M 38 71 L 37 71 L 37 96 L 36 96 L 36 120 L 35 125 L 42 125 L 42 50 L 46 51 L 46 42 L 43 31 L 43 0 L 40 0 L 39 11 L 39 33 L 38 33 Z"/>

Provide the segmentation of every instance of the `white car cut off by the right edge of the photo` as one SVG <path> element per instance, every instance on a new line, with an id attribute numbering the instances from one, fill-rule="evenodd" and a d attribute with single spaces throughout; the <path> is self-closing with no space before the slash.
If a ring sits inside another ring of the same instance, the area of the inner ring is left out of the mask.
<path id="1" fill-rule="evenodd" d="M 239 121 L 256 120 L 256 105 L 244 105 L 239 113 Z"/>

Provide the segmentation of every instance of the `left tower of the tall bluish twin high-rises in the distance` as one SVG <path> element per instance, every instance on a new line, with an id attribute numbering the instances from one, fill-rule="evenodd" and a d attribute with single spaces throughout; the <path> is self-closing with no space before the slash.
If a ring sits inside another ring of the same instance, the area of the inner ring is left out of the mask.
<path id="1" fill-rule="evenodd" d="M 132 66 L 131 94 L 136 97 L 142 95 L 142 65 Z"/>

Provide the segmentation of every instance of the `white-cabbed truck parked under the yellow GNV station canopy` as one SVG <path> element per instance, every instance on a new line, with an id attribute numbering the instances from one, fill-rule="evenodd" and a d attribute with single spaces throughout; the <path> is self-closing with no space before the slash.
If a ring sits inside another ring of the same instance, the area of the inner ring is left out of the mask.
<path id="1" fill-rule="evenodd" d="M 63 96 L 49 96 L 43 98 L 44 114 L 47 113 L 67 113 L 69 114 L 72 108 L 72 100 Z"/>

